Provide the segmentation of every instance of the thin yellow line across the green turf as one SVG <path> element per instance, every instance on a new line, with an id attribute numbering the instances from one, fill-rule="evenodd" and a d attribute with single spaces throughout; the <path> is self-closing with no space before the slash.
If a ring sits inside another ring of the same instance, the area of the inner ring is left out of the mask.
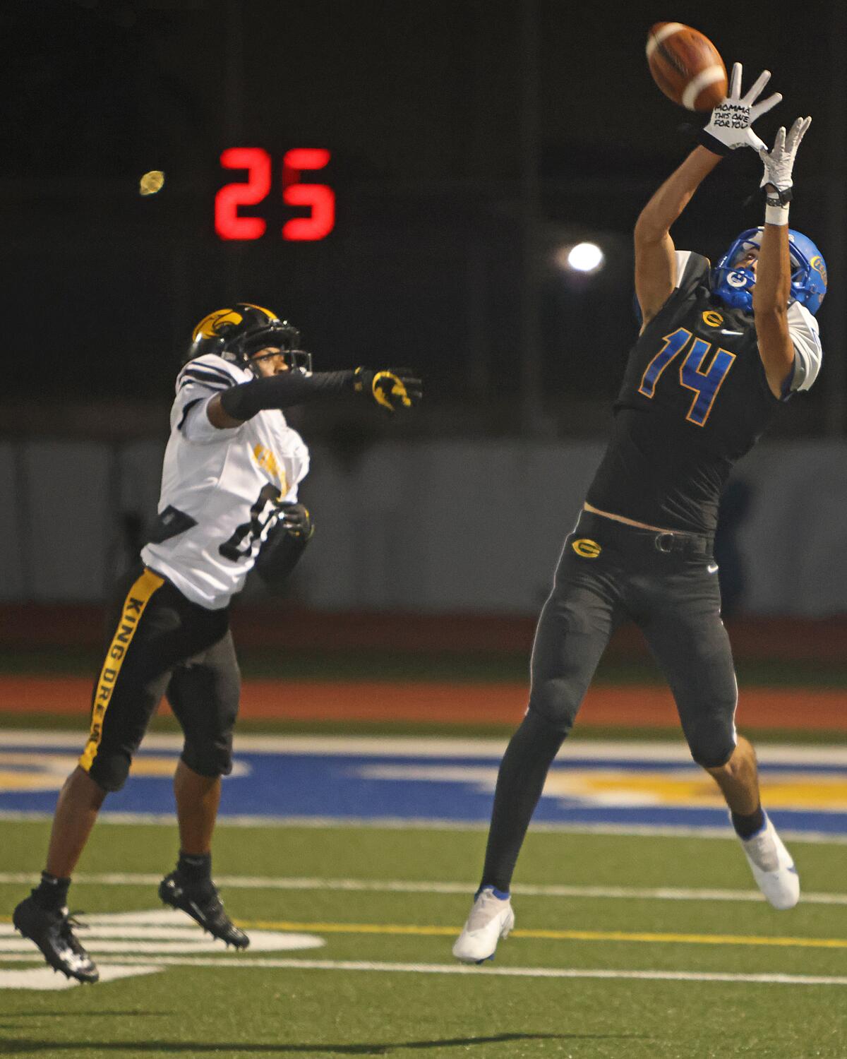
<path id="1" fill-rule="evenodd" d="M 417 927 L 407 923 L 300 923 L 266 919 L 238 920 L 245 930 L 292 930 L 314 934 L 411 934 L 425 937 L 455 937 L 455 927 Z M 533 937 L 553 941 L 642 941 L 659 945 L 771 945 L 799 949 L 847 949 L 840 937 L 760 937 L 745 934 L 652 934 L 598 930 L 513 930 L 510 937 Z"/>

